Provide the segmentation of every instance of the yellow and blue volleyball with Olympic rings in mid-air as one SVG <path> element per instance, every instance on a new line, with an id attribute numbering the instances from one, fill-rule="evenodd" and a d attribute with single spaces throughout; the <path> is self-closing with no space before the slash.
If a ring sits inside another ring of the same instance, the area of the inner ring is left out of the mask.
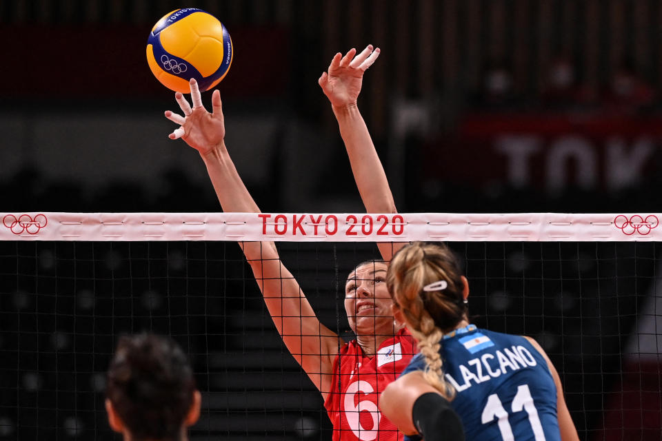
<path id="1" fill-rule="evenodd" d="M 166 88 L 190 92 L 189 80 L 201 92 L 214 88 L 232 64 L 230 33 L 219 19 L 198 8 L 164 15 L 147 40 L 150 70 Z"/>

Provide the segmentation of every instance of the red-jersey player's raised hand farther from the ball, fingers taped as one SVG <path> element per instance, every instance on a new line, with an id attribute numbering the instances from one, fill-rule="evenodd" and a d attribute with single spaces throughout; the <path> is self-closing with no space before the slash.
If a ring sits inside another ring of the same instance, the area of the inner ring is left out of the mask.
<path id="1" fill-rule="evenodd" d="M 371 44 L 360 54 L 357 54 L 354 48 L 350 49 L 345 57 L 340 52 L 335 54 L 328 72 L 323 72 L 318 81 L 332 106 L 357 104 L 363 72 L 370 68 L 377 57 L 379 57 L 379 48 L 372 48 Z"/>

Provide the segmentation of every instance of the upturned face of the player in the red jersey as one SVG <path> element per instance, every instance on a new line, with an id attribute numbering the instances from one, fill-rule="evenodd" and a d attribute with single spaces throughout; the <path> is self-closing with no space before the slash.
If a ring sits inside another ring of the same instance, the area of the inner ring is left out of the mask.
<path id="1" fill-rule="evenodd" d="M 386 288 L 388 265 L 365 263 L 354 269 L 345 283 L 345 311 L 356 334 L 392 332 L 393 301 Z"/>

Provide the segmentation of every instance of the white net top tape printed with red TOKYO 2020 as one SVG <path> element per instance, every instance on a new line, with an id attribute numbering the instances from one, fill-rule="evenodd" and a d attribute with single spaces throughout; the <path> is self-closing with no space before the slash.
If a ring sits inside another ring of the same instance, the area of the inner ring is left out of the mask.
<path id="1" fill-rule="evenodd" d="M 0 213 L 0 240 L 660 241 L 662 214 Z"/>

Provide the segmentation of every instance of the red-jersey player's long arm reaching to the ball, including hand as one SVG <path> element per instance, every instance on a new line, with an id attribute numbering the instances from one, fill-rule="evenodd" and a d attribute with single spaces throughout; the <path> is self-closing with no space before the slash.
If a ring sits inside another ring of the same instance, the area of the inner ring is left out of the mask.
<path id="1" fill-rule="evenodd" d="M 200 153 L 224 212 L 259 213 L 223 141 L 225 122 L 220 92 L 212 93 L 210 113 L 202 104 L 197 83 L 191 80 L 190 85 L 192 106 L 181 93 L 175 94 L 183 116 L 165 112 L 166 118 L 180 125 L 170 139 L 181 138 Z M 339 337 L 319 322 L 299 283 L 281 263 L 273 242 L 240 245 L 285 346 L 326 398 L 324 391 L 330 390 Z"/>

